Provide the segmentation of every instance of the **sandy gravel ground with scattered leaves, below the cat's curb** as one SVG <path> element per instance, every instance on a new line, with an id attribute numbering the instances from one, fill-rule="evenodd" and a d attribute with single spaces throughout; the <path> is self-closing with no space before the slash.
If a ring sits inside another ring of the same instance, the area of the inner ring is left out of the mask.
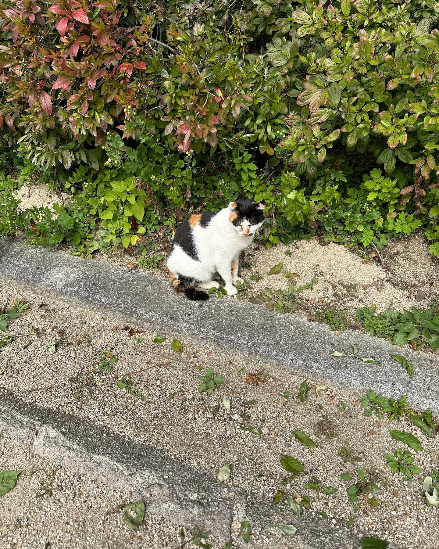
<path id="1" fill-rule="evenodd" d="M 267 265 L 272 263 L 274 256 L 267 260 Z M 0 281 L 0 296 L 2 303 L 10 304 L 18 295 L 12 286 Z M 302 516 L 327 517 L 329 532 L 344 529 L 350 522 L 354 531 L 385 538 L 399 547 L 437 546 L 438 510 L 426 508 L 420 488 L 424 477 L 438 467 L 437 438 L 427 438 L 405 421 L 390 424 L 387 418 L 378 421 L 375 416 L 364 417 L 359 404 L 361 394 L 334 384 L 321 389 L 324 382 L 319 379 L 308 380 L 309 385 L 317 386 L 319 394 L 316 388 L 310 388 L 307 400 L 301 404 L 296 394 L 303 379 L 283 365 L 261 363 L 251 355 L 225 354 L 192 340 L 182 341 L 183 352 L 178 354 L 171 348 L 172 334 L 164 334 L 165 341 L 154 343 L 157 334 L 131 330 L 130 335 L 129 329 L 119 329 L 123 326 L 112 318 L 41 295 L 26 293 L 24 298 L 30 308 L 9 326 L 10 333 L 17 337 L 0 348 L 0 385 L 5 390 L 24 401 L 90 418 L 166 455 L 178 456 L 182 467 L 189 463 L 200 475 L 212 479 L 219 467 L 231 463 L 232 473 L 226 481 L 231 494 L 242 488 L 270 501 L 286 476 L 280 455 L 293 456 L 303 463 L 306 474 L 294 479 L 286 491 L 292 494 L 296 490 L 310 498 L 310 508 L 302 507 Z M 26 346 L 29 341 L 32 343 Z M 55 342 L 55 352 L 50 353 Z M 111 372 L 106 368 L 99 371 L 103 350 L 109 351 L 104 355 L 119 358 L 112 363 Z M 224 377 L 211 395 L 198 392 L 198 376 L 209 367 Z M 257 372 L 264 381 L 257 386 L 247 383 L 249 375 Z M 142 398 L 116 386 L 127 376 L 131 388 L 140 391 Z M 257 429 L 259 434 L 241 427 Z M 317 447 L 301 445 L 292 434 L 296 429 L 308 434 Z M 397 447 L 408 449 L 391 438 L 390 429 L 412 433 L 423 447 L 421 451 L 410 450 L 414 463 L 423 469 L 411 486 L 400 483 L 386 464 L 385 453 L 393 453 Z M 12 439 L 3 438 L 1 444 L 0 470 L 24 470 L 15 488 L 2 497 L 0 539 L 7 540 L 5 547 L 26 547 L 24 539 L 29 547 L 44 546 L 42 541 L 47 539 L 54 547 L 65 547 L 55 541 L 67 531 L 76 536 L 72 538 L 75 547 L 106 547 L 99 541 L 105 539 L 114 540 L 112 546 L 130 546 L 120 541 L 131 539 L 121 512 L 113 512 L 125 505 L 130 494 L 91 485 L 86 477 L 78 478 L 57 464 L 44 463 L 44 468 L 54 469 L 53 483 L 61 484 L 63 489 L 56 488 L 52 495 L 41 499 L 31 497 L 38 490 L 38 479 L 45 476 L 42 472 L 31 475 L 33 468 L 42 465 L 38 456 L 32 454 L 32 449 L 21 450 Z M 371 492 L 370 497 L 379 505 L 369 506 L 362 497 L 361 507 L 354 513 L 346 490 L 358 482 L 358 470 L 376 479 L 380 490 Z M 353 480 L 342 480 L 341 473 L 351 473 Z M 322 486 L 337 491 L 325 495 L 305 488 L 312 475 Z M 279 509 L 287 508 L 284 502 L 279 503 Z M 73 516 L 75 524 L 81 521 L 81 528 L 72 526 Z M 173 536 L 178 541 L 175 536 L 180 525 L 164 521 L 163 517 L 147 517 L 136 530 L 133 546 L 157 547 L 169 544 Z M 291 513 L 291 522 L 300 528 L 300 519 L 295 521 Z M 100 537 L 96 540 L 93 536 L 97 525 Z M 239 523 L 232 524 L 231 529 L 236 546 L 244 547 L 237 537 Z M 138 536 L 144 536 L 143 545 Z M 264 547 L 278 540 L 267 536 L 261 530 L 255 531 L 251 544 Z M 213 547 L 223 547 L 215 539 L 210 542 Z"/>

